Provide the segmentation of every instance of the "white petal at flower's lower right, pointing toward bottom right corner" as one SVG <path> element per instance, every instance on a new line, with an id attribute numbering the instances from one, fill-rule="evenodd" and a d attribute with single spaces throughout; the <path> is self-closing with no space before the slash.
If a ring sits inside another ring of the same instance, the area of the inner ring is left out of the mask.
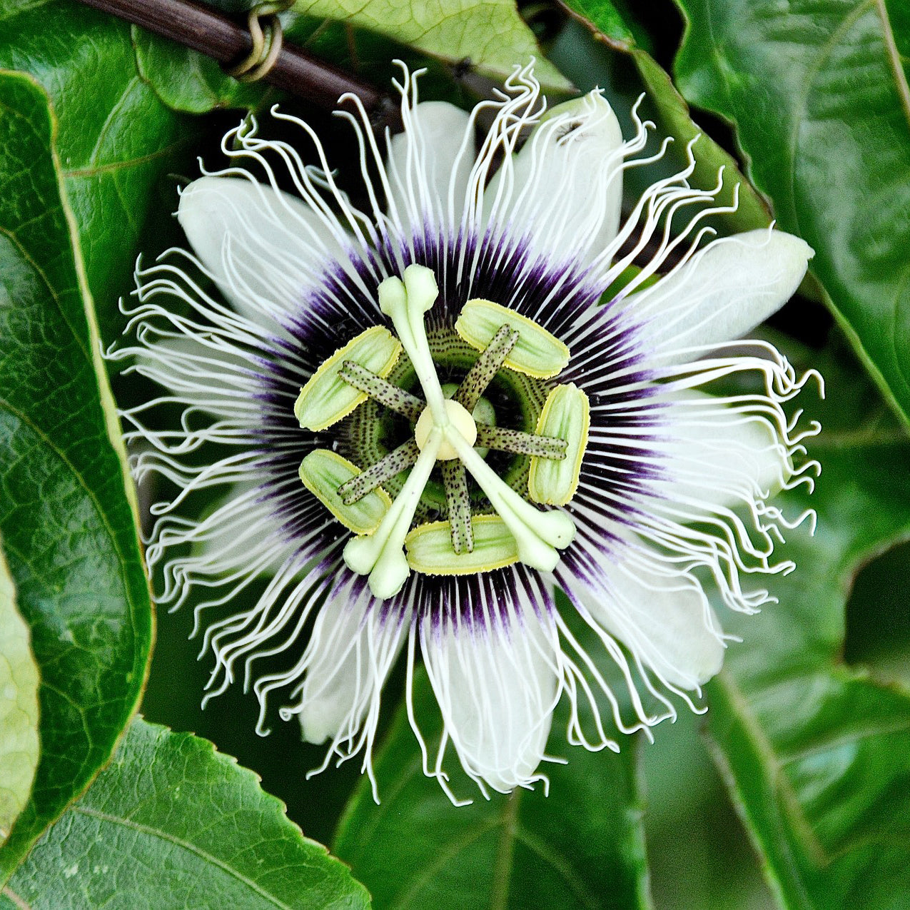
<path id="1" fill-rule="evenodd" d="M 592 591 L 566 573 L 571 593 L 663 682 L 698 689 L 723 664 L 720 622 L 698 581 L 647 547 L 631 546 L 634 553 L 617 552 L 622 562 L 602 564 L 603 590 Z"/>

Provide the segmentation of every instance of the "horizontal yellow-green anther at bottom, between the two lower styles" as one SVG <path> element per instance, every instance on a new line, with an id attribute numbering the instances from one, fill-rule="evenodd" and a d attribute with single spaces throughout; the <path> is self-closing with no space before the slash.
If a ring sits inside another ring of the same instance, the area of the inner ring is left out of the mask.
<path id="1" fill-rule="evenodd" d="M 468 575 L 518 561 L 518 544 L 499 515 L 477 515 L 470 523 L 474 539 L 470 551 L 454 550 L 446 521 L 421 524 L 411 531 L 404 541 L 411 569 L 428 575 Z"/>

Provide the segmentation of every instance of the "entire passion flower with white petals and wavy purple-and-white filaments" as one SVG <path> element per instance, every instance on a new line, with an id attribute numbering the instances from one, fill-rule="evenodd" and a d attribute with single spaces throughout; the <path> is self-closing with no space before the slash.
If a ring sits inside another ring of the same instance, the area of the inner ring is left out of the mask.
<path id="1" fill-rule="evenodd" d="M 109 356 L 167 389 L 123 418 L 136 478 L 175 490 L 147 559 L 160 602 L 202 592 L 207 697 L 239 678 L 260 732 L 279 698 L 326 763 L 372 776 L 383 682 L 403 652 L 410 705 L 420 652 L 444 723 L 430 753 L 410 711 L 425 772 L 450 793 L 451 745 L 482 793 L 508 792 L 544 779 L 561 699 L 589 749 L 696 707 L 726 644 L 703 583 L 753 612 L 751 582 L 792 567 L 774 542 L 805 516 L 769 500 L 817 468 L 817 427 L 783 409 L 806 378 L 731 342 L 812 250 L 770 228 L 711 239 L 729 209 L 690 186 L 692 147 L 623 219 L 623 172 L 665 145 L 646 153 L 635 112 L 623 141 L 598 92 L 547 109 L 525 68 L 466 113 L 419 103 L 407 71 L 398 87 L 398 136 L 377 142 L 355 99 L 341 115 L 362 210 L 306 123 L 273 111 L 317 166 L 229 133 L 231 167 L 180 197 L 193 253 L 137 269 L 135 341 Z M 716 394 L 741 373 L 757 391 Z M 175 402 L 179 426 L 147 426 Z M 267 656 L 283 669 L 258 671 Z"/>

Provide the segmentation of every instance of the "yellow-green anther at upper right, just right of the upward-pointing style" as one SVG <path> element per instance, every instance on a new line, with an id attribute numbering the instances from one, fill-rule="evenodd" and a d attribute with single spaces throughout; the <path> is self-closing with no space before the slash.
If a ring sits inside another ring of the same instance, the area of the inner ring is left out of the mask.
<path id="1" fill-rule="evenodd" d="M 569 362 L 569 349 L 560 339 L 521 313 L 491 300 L 469 300 L 455 320 L 455 331 L 478 350 L 488 348 L 503 326 L 519 333 L 504 366 L 535 379 L 549 379 Z"/>

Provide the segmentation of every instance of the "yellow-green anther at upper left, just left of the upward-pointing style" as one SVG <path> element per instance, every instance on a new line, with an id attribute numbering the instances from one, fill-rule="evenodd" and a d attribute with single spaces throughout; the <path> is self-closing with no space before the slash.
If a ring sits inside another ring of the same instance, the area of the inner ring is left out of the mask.
<path id="1" fill-rule="evenodd" d="M 335 351 L 300 389 L 294 414 L 305 430 L 325 430 L 354 410 L 367 395 L 339 375 L 346 361 L 379 377 L 388 376 L 401 354 L 401 342 L 389 329 L 373 326 Z"/>

